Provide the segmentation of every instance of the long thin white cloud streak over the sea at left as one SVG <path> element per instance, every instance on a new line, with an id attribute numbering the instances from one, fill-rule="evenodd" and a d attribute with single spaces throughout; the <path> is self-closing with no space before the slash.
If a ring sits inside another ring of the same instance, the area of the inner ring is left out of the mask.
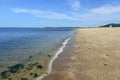
<path id="1" fill-rule="evenodd" d="M 50 18 L 50 19 L 67 19 L 67 20 L 73 20 L 74 17 L 71 17 L 64 13 L 57 13 L 53 11 L 42 11 L 42 10 L 36 10 L 36 9 L 11 9 L 15 13 L 29 13 L 34 15 L 35 17 L 41 17 L 41 18 Z"/>

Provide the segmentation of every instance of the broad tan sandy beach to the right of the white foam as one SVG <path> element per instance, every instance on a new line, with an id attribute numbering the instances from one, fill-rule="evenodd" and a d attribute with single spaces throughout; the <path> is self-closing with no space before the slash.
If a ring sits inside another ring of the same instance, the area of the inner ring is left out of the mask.
<path id="1" fill-rule="evenodd" d="M 120 80 L 120 28 L 78 29 L 43 80 Z"/>

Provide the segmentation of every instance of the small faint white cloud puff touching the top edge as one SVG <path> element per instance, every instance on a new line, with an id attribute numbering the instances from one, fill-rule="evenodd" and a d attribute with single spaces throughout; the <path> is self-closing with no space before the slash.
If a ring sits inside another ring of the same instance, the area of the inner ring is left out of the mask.
<path id="1" fill-rule="evenodd" d="M 79 10 L 81 8 L 79 0 L 68 0 L 68 4 L 72 7 L 73 10 Z"/>

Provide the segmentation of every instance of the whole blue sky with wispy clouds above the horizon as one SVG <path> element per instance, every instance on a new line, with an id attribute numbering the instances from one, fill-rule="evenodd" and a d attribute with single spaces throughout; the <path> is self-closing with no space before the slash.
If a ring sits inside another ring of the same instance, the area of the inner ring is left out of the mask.
<path id="1" fill-rule="evenodd" d="M 96 27 L 120 23 L 120 0 L 0 0 L 0 27 Z"/>

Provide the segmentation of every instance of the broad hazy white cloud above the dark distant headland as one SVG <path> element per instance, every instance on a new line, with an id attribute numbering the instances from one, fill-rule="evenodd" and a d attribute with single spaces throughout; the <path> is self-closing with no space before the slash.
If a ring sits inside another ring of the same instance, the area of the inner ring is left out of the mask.
<path id="1" fill-rule="evenodd" d="M 80 16 L 81 20 L 91 21 L 110 21 L 119 20 L 120 6 L 106 5 L 98 8 L 88 10 L 85 14 Z"/>

